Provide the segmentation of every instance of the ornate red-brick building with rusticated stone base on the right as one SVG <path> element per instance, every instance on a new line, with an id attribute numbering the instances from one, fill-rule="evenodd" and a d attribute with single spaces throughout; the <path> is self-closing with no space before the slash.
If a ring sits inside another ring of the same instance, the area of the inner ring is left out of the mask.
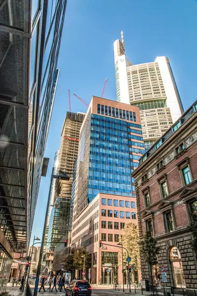
<path id="1" fill-rule="evenodd" d="M 184 288 L 186 295 L 195 295 L 197 254 L 191 248 L 189 225 L 191 214 L 197 214 L 197 102 L 141 157 L 132 177 L 140 241 L 151 230 L 161 246 L 158 264 L 152 269 L 155 281 L 164 286 L 160 276 L 164 264 L 166 286 L 175 294 L 182 294 Z M 143 254 L 141 271 L 142 280 L 149 280 Z"/>

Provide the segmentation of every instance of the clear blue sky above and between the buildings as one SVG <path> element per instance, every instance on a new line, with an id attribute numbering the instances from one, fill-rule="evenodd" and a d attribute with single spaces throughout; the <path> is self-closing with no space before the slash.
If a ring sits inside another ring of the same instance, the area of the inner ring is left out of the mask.
<path id="1" fill-rule="evenodd" d="M 197 0 L 67 0 L 58 68 L 60 76 L 45 157 L 47 177 L 41 178 L 33 235 L 41 239 L 55 151 L 71 93 L 73 112 L 87 108 L 93 95 L 116 100 L 113 42 L 124 31 L 125 49 L 132 64 L 169 58 L 184 109 L 197 100 Z"/>

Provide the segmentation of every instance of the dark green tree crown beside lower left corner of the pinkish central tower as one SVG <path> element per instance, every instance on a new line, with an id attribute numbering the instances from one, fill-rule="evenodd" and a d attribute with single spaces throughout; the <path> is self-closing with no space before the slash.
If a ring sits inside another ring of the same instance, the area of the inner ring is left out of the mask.
<path id="1" fill-rule="evenodd" d="M 92 257 L 91 254 L 87 252 L 85 248 L 78 249 L 74 251 L 74 258 L 73 258 L 73 266 L 76 269 L 83 269 L 84 264 L 84 258 L 85 256 L 85 269 L 89 269 L 91 267 L 92 263 Z"/>

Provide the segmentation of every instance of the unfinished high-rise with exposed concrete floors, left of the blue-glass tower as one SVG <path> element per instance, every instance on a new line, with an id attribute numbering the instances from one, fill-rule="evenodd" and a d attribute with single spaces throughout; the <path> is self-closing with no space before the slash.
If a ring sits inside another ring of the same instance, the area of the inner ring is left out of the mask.
<path id="1" fill-rule="evenodd" d="M 55 181 L 55 190 L 52 198 L 53 207 L 49 219 L 48 242 L 62 241 L 69 227 L 69 213 L 71 201 L 71 189 L 73 182 L 74 163 L 78 153 L 79 131 L 85 114 L 66 112 L 66 119 L 62 129 L 61 145 L 58 155 L 57 174 L 69 176 L 69 180 L 61 178 Z M 51 255 L 55 250 L 56 244 L 49 243 L 47 250 Z"/>

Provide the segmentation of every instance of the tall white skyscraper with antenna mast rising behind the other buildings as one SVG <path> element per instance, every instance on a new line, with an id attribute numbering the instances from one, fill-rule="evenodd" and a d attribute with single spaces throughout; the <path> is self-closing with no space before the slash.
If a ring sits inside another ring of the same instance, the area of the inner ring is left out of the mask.
<path id="1" fill-rule="evenodd" d="M 148 149 L 183 113 L 169 60 L 157 57 L 152 63 L 132 65 L 122 38 L 114 42 L 114 62 L 117 101 L 139 107 Z"/>

